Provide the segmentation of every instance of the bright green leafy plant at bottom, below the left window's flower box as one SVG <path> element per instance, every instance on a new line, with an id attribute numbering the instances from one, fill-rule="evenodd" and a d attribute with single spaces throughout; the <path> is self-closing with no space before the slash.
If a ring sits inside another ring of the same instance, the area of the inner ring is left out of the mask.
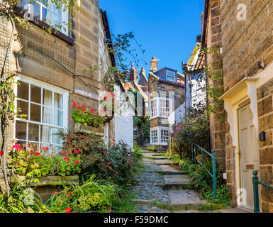
<path id="1" fill-rule="evenodd" d="M 122 192 L 117 184 L 95 180 L 95 175 L 84 184 L 63 185 L 64 189 L 53 192 L 46 206 L 52 212 L 106 212 L 111 209 Z"/>

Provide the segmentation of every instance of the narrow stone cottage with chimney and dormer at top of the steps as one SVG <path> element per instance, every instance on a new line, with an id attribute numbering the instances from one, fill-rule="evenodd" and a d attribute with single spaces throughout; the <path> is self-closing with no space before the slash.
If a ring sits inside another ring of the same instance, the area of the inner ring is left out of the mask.
<path id="1" fill-rule="evenodd" d="M 166 148 L 172 126 L 185 114 L 184 75 L 163 67 L 152 57 L 149 72 L 150 143 Z"/>

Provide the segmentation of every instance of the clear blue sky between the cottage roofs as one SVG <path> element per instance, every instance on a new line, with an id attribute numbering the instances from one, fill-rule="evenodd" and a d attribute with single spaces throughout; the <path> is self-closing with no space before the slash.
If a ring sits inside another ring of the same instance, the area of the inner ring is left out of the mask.
<path id="1" fill-rule="evenodd" d="M 201 33 L 201 13 L 204 0 L 100 0 L 106 10 L 111 33 L 133 31 L 142 45 L 147 62 L 139 67 L 150 70 L 152 57 L 160 59 L 158 69 L 170 67 L 182 72 L 182 61 L 187 62 L 196 35 Z"/>

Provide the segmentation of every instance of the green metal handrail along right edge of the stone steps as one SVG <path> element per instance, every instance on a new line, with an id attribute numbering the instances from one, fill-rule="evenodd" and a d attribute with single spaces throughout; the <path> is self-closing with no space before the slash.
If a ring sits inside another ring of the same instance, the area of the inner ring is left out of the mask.
<path id="1" fill-rule="evenodd" d="M 197 158 L 197 156 L 198 156 L 197 154 L 200 153 L 200 152 L 201 152 L 201 155 L 202 155 L 201 162 Z M 205 165 L 204 165 L 204 153 L 209 155 L 211 157 L 211 159 L 212 159 L 213 172 L 208 171 L 206 169 Z M 215 150 L 212 150 L 212 154 L 211 154 L 207 150 L 205 150 L 204 148 L 201 148 L 196 143 L 192 143 L 192 157 L 193 157 L 193 160 L 194 160 L 195 164 L 197 164 L 197 162 L 199 162 L 199 164 L 202 165 L 202 167 L 204 167 L 206 172 L 208 172 L 208 174 L 212 177 L 212 179 L 213 179 L 213 195 L 214 195 L 214 199 L 216 199 L 216 157 L 215 157 Z"/>

